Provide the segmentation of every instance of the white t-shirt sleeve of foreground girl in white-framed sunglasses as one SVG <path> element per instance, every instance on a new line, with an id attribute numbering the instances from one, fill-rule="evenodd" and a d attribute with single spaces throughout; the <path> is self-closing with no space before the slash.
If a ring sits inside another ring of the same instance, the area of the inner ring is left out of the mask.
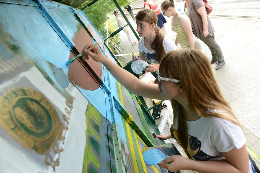
<path id="1" fill-rule="evenodd" d="M 233 148 L 241 148 L 246 143 L 243 130 L 239 125 L 226 121 L 212 140 L 219 152 L 228 152 Z"/>

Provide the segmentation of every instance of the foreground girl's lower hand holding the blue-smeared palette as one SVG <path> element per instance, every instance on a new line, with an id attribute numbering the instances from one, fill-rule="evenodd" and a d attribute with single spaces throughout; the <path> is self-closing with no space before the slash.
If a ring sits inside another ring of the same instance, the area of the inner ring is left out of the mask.
<path id="1" fill-rule="evenodd" d="M 167 169 L 168 171 L 174 172 L 179 170 L 185 170 L 185 167 L 188 164 L 189 164 L 189 159 L 180 155 L 173 155 L 161 161 L 159 166 Z"/>

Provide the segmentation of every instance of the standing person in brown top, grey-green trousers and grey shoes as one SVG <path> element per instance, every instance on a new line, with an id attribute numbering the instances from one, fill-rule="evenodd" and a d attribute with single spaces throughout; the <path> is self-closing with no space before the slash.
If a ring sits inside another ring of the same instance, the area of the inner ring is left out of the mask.
<path id="1" fill-rule="evenodd" d="M 206 13 L 205 5 L 202 0 L 182 0 L 184 4 L 184 13 L 191 20 L 191 27 L 194 35 L 203 41 L 211 51 L 211 64 L 218 61 L 216 70 L 220 69 L 226 62 L 222 50 L 215 40 L 215 30 L 212 22 Z"/>

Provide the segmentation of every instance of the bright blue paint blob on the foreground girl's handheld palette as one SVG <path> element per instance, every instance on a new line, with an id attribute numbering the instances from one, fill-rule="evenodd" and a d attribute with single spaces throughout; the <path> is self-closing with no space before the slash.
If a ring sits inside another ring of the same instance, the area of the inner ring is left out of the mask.
<path id="1" fill-rule="evenodd" d="M 142 153 L 142 155 L 143 155 L 144 162 L 148 166 L 158 164 L 161 161 L 166 159 L 164 152 L 162 152 L 158 148 L 150 148 L 146 150 L 144 153 Z"/>

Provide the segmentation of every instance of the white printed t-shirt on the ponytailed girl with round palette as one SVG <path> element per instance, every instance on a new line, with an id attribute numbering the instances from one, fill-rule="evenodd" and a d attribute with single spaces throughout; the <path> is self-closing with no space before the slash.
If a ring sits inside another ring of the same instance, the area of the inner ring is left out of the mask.
<path id="1" fill-rule="evenodd" d="M 174 41 L 171 38 L 169 38 L 168 36 L 164 36 L 163 47 L 164 47 L 165 53 L 167 53 L 171 50 L 175 50 L 177 48 Z M 144 54 L 144 57 L 148 62 L 159 64 L 159 62 L 156 61 L 156 58 L 155 58 L 155 50 L 146 49 L 146 47 L 144 46 L 144 37 L 142 37 L 139 40 L 138 49 L 140 52 L 142 52 Z"/>

